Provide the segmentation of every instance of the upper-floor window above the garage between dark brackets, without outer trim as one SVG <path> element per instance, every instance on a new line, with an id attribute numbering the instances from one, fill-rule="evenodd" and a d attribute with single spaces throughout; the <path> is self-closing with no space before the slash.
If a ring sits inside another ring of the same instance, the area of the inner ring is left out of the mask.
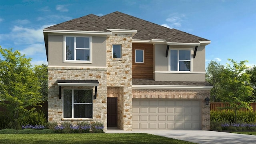
<path id="1" fill-rule="evenodd" d="M 170 50 L 170 70 L 190 71 L 191 50 Z"/>

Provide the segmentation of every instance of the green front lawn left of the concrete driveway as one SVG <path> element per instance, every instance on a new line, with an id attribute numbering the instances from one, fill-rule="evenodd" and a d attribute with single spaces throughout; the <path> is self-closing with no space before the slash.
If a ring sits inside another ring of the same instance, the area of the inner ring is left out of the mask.
<path id="1" fill-rule="evenodd" d="M 1 144 L 195 144 L 152 134 L 0 134 Z"/>

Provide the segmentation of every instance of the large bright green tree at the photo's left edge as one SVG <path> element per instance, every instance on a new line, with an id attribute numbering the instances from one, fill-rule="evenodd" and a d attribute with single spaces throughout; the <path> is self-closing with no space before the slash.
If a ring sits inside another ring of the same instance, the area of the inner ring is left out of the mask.
<path id="1" fill-rule="evenodd" d="M 6 108 L 9 127 L 18 129 L 28 106 L 38 106 L 42 102 L 40 84 L 30 64 L 20 52 L 0 47 L 0 101 Z"/>

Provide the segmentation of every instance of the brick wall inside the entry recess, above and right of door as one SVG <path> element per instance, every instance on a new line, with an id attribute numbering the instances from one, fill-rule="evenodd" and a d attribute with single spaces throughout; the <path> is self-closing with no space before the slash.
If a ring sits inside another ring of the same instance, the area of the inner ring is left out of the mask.
<path id="1" fill-rule="evenodd" d="M 107 97 L 117 98 L 117 128 L 120 127 L 120 87 L 107 87 Z"/>

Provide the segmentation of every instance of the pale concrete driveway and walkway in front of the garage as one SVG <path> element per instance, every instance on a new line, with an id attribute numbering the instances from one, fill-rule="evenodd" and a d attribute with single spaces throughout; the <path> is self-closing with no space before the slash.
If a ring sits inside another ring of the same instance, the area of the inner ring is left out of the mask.
<path id="1" fill-rule="evenodd" d="M 148 133 L 199 144 L 256 144 L 256 136 L 208 130 L 106 130 L 106 133 Z"/>

